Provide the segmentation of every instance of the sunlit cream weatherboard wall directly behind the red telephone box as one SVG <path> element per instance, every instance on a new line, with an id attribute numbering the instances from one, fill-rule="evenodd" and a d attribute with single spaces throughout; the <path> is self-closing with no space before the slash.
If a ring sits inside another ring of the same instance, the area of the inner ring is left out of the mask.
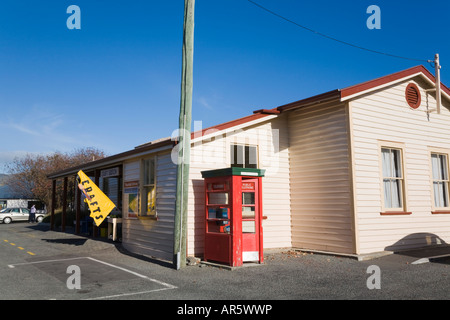
<path id="1" fill-rule="evenodd" d="M 258 147 L 263 177 L 264 248 L 290 247 L 289 150 L 287 120 L 281 116 L 250 127 L 193 143 L 191 149 L 188 255 L 203 255 L 205 229 L 204 180 L 201 171 L 231 165 L 233 143 Z"/>

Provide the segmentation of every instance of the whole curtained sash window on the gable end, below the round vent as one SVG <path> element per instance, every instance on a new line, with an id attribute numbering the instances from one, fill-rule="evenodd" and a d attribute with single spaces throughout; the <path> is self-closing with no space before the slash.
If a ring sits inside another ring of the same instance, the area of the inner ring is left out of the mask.
<path id="1" fill-rule="evenodd" d="M 402 151 L 397 148 L 381 148 L 384 208 L 403 209 L 404 179 Z"/>

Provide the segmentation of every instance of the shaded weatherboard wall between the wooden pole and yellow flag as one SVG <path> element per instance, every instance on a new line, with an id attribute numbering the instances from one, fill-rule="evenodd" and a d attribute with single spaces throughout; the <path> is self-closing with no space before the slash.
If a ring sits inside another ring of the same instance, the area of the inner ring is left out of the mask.
<path id="1" fill-rule="evenodd" d="M 124 182 L 140 179 L 140 163 L 140 159 L 124 163 Z M 176 176 L 176 165 L 172 162 L 170 153 L 158 154 L 156 156 L 158 219 L 124 218 L 122 226 L 124 248 L 134 253 L 172 260 Z M 123 205 L 126 206 L 125 199 Z"/>

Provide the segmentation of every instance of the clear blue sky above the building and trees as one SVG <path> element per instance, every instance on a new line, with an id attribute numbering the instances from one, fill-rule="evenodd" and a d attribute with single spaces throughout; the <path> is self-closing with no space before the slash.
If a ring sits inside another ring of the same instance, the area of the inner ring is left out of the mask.
<path id="1" fill-rule="evenodd" d="M 255 0 L 308 28 L 417 59 L 440 53 L 450 85 L 447 0 Z M 182 0 L 2 0 L 0 173 L 24 153 L 112 155 L 178 126 Z M 69 5 L 81 29 L 69 30 Z M 381 29 L 369 30 L 370 5 Z M 193 120 L 203 127 L 426 62 L 345 46 L 247 0 L 197 0 Z"/>

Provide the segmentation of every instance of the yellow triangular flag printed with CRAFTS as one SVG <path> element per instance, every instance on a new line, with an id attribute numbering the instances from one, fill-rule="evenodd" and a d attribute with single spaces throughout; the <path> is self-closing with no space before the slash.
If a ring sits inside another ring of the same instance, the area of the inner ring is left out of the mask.
<path id="1" fill-rule="evenodd" d="M 94 219 L 95 225 L 98 227 L 116 205 L 82 170 L 78 171 L 78 177 L 80 178 L 78 188 L 86 196 L 85 201 L 91 210 L 90 217 Z"/>

